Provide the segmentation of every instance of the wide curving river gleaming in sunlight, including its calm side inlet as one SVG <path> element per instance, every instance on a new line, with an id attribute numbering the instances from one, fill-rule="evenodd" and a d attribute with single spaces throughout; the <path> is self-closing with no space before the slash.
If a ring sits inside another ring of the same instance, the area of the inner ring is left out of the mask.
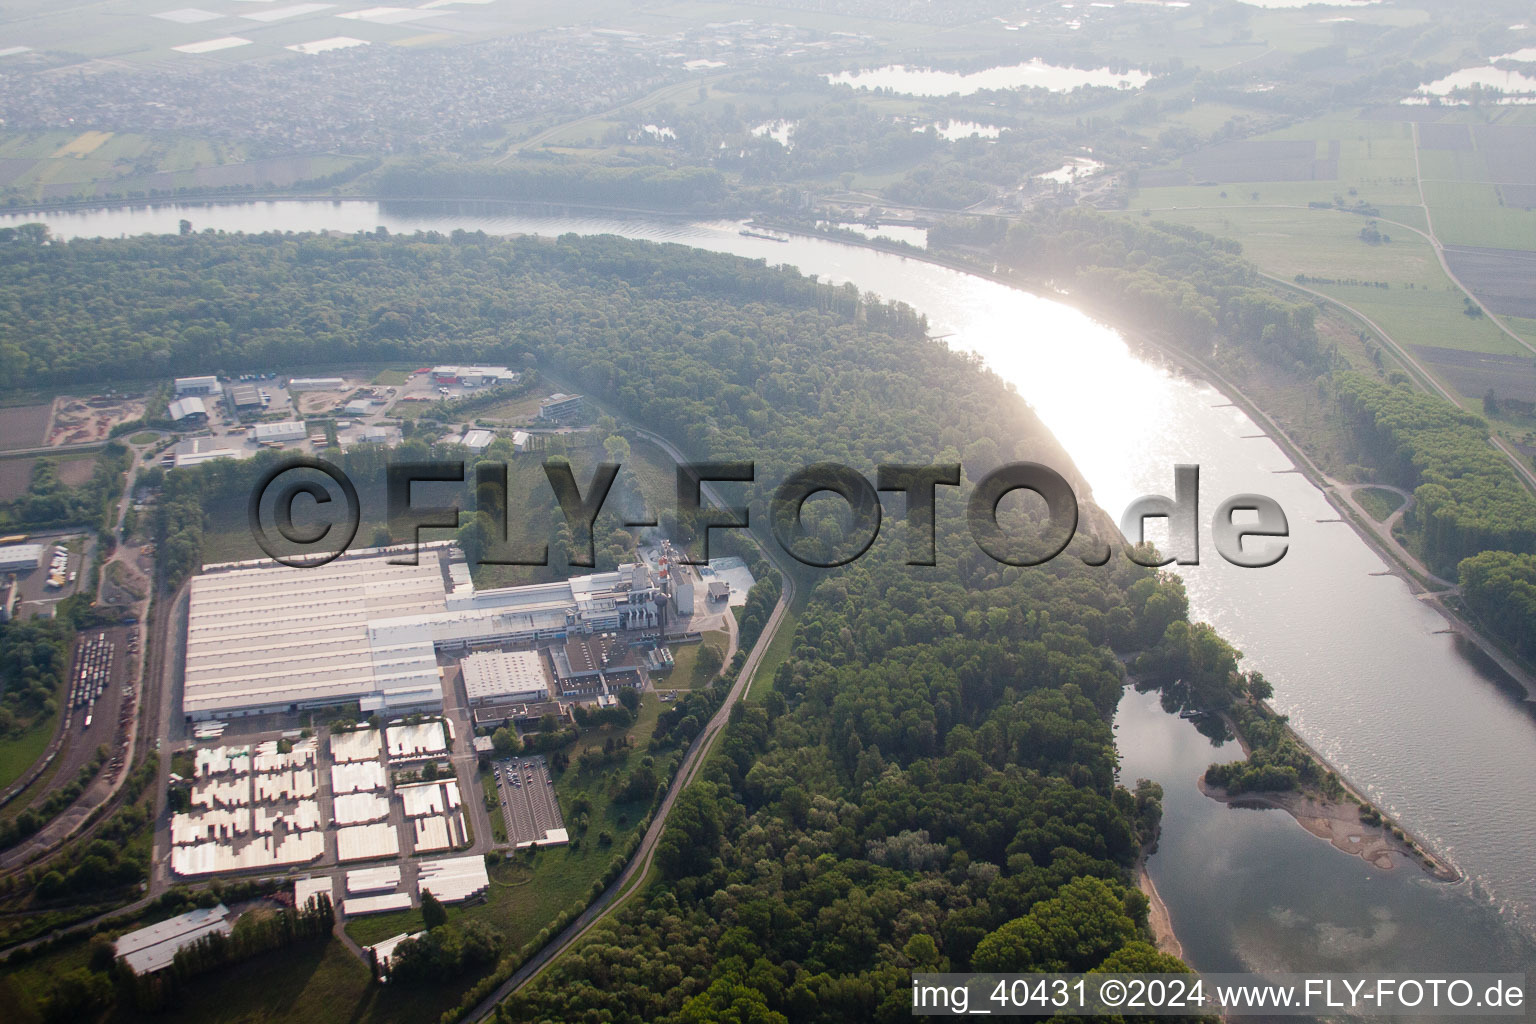
<path id="1" fill-rule="evenodd" d="M 201 230 L 481 229 L 607 232 L 788 263 L 852 281 L 928 315 L 935 335 L 1014 382 L 1115 517 L 1172 493 L 1174 465 L 1201 467 L 1203 562 L 1180 567 L 1195 617 L 1212 622 L 1275 686 L 1275 706 L 1352 783 L 1465 880 L 1379 870 L 1278 811 L 1204 798 L 1213 749 L 1155 699 L 1127 692 L 1117 717 L 1121 775 L 1166 791 L 1149 860 L 1186 956 L 1206 970 L 1531 970 L 1536 946 L 1536 722 L 1439 633 L 1445 622 L 1393 576 L 1281 450 L 1210 385 L 1138 355 L 1109 327 L 1048 298 L 837 241 L 788 244 L 736 223 L 525 216 L 502 209 L 372 201 L 140 206 L 0 218 L 60 236 Z M 1221 560 L 1209 520 L 1229 494 L 1269 494 L 1290 522 L 1289 554 L 1243 570 Z"/>

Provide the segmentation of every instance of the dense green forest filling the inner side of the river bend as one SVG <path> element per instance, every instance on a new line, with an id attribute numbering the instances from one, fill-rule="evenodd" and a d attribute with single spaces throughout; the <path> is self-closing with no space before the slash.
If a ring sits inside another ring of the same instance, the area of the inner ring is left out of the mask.
<path id="1" fill-rule="evenodd" d="M 52 273 L 78 289 L 55 286 L 34 318 L 61 342 L 58 372 L 94 348 L 118 358 L 77 319 L 111 307 L 127 335 L 154 330 L 177 367 L 335 361 L 338 348 L 538 365 L 690 457 L 754 461 L 754 482 L 734 487 L 759 510 L 817 461 L 866 476 L 880 462 L 958 462 L 974 482 L 1028 459 L 1086 493 L 1034 413 L 929 341 L 912 310 L 756 261 L 611 236 L 479 235 L 194 235 L 69 243 L 22 261 L 60 258 Z M 326 341 L 306 324 L 326 324 Z M 197 565 L 203 504 L 244 474 L 166 474 L 167 573 Z M 1157 801 L 1117 780 L 1111 717 L 1121 659 L 1198 668 L 1198 692 L 1170 699 L 1233 702 L 1236 654 L 1187 623 L 1175 577 L 1078 557 L 1109 528 L 1097 510 L 1084 505 L 1066 554 L 1020 568 L 969 542 L 948 490 L 937 567 L 905 563 L 903 527 L 849 567 L 796 570 L 808 603 L 790 657 L 733 709 L 679 798 L 660 880 L 507 1019 L 906 1019 L 912 970 L 1181 969 L 1149 944 L 1130 867 Z M 1028 507 L 1003 519 L 1032 527 Z M 837 522 L 836 508 L 806 505 L 809 536 Z M 743 631 L 773 603 L 774 580 L 760 586 Z M 680 702 L 653 746 L 687 743 L 719 697 L 716 686 Z M 419 952 L 462 963 L 479 938 L 444 935 Z"/>

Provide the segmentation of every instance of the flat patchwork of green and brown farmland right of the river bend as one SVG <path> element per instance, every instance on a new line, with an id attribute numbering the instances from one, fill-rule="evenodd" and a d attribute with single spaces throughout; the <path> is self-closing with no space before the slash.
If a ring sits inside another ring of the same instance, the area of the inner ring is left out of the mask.
<path id="1" fill-rule="evenodd" d="M 1212 146 L 1141 172 L 1130 212 L 1240 241 L 1266 273 L 1372 319 L 1468 407 L 1490 387 L 1531 401 L 1533 353 L 1471 306 L 1433 244 L 1493 313 L 1536 319 L 1536 253 L 1521 252 L 1536 212 L 1499 192 L 1527 177 L 1536 192 L 1536 129 L 1478 117 L 1376 107 Z M 1527 324 L 1510 327 L 1536 338 Z"/>

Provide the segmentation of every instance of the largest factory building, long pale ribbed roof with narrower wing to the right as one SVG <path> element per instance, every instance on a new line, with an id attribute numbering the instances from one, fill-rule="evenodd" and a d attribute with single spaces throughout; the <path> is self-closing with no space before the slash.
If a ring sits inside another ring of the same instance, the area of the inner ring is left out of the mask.
<path id="1" fill-rule="evenodd" d="M 660 625 L 665 594 L 644 563 L 558 583 L 475 590 L 453 542 L 349 551 L 319 568 L 206 565 L 192 579 L 190 720 L 359 702 L 362 714 L 439 708 L 436 652 Z"/>

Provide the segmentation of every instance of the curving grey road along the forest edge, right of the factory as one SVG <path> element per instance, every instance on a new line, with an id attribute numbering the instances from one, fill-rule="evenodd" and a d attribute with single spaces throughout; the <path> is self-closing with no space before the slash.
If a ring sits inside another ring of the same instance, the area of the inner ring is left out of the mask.
<path id="1" fill-rule="evenodd" d="M 634 430 L 636 434 L 645 438 L 662 451 L 670 454 L 676 462 L 687 462 L 688 459 L 679 451 L 670 441 L 653 434 L 648 430 Z M 728 505 L 713 487 L 705 484 L 702 487 L 703 494 L 719 504 Z M 773 614 L 768 616 L 768 623 L 763 626 L 762 636 L 757 637 L 757 643 L 753 645 L 751 652 L 742 663 L 742 671 L 736 676 L 736 682 L 731 685 L 730 692 L 720 703 L 720 708 L 710 718 L 708 725 L 699 731 L 693 743 L 688 746 L 688 752 L 684 755 L 682 765 L 677 766 L 677 774 L 673 777 L 671 785 L 667 788 L 667 795 L 662 798 L 660 806 L 651 818 L 651 824 L 645 829 L 645 837 L 641 840 L 641 846 L 634 851 L 634 857 L 630 860 L 624 872 L 610 884 L 601 897 L 598 897 L 591 906 L 582 912 L 574 921 L 565 926 L 559 935 L 556 935 L 544 949 L 535 953 L 528 963 L 513 972 L 513 975 L 504 981 L 495 992 L 485 996 L 479 1006 L 476 1006 L 470 1015 L 465 1018 L 468 1021 L 485 1021 L 495 1015 L 496 1007 L 502 999 L 510 996 L 513 992 L 528 984 L 539 973 L 554 961 L 556 956 L 564 953 L 567 949 L 581 941 L 587 932 L 593 929 L 599 921 L 613 913 L 624 901 L 639 892 L 644 887 L 645 875 L 651 869 L 651 863 L 656 858 L 656 844 L 662 837 L 662 831 L 667 827 L 667 817 L 671 814 L 673 806 L 677 803 L 677 797 L 687 789 L 694 778 L 699 775 L 699 769 L 708 758 L 710 748 L 714 746 L 716 737 L 725 729 L 727 723 L 731 720 L 731 708 L 740 700 L 748 689 L 751 689 L 753 679 L 757 674 L 757 666 L 762 665 L 763 654 L 773 643 L 773 639 L 779 634 L 783 626 L 785 616 L 790 611 L 790 603 L 794 600 L 794 577 L 790 574 L 788 568 L 782 562 L 782 556 L 771 548 L 771 545 L 763 547 L 763 554 L 768 562 L 779 571 L 779 577 L 783 580 L 783 591 L 779 594 L 779 603 L 774 605 Z M 734 619 L 734 616 L 733 616 Z M 734 639 L 734 628 L 733 628 Z M 630 883 L 636 883 L 630 887 Z"/>

